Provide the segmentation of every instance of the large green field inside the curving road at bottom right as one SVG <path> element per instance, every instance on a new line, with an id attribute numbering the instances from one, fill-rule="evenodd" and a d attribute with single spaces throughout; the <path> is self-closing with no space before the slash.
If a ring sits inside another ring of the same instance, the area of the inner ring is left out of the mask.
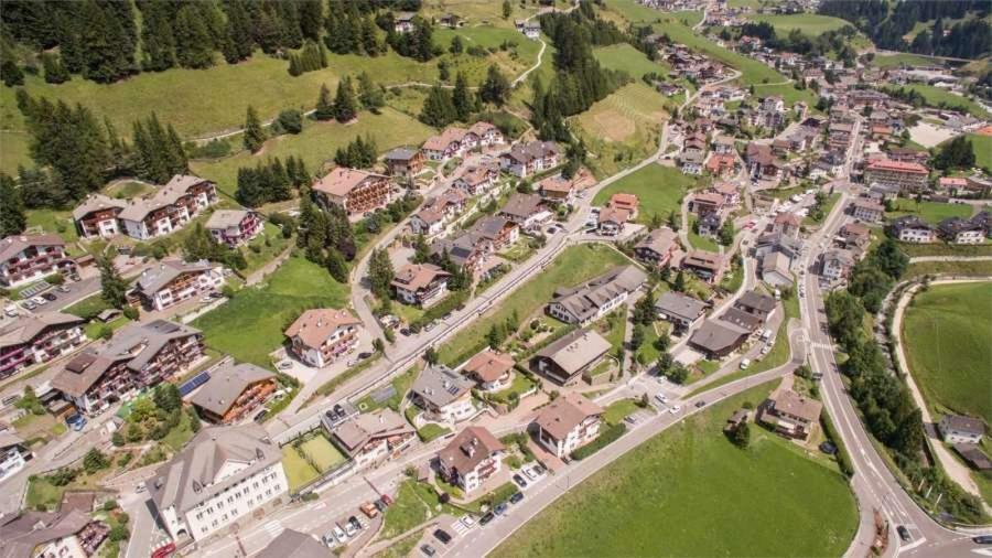
<path id="1" fill-rule="evenodd" d="M 528 557 L 840 556 L 858 527 L 844 477 L 753 427 L 722 429 L 770 384 L 687 419 L 573 486 L 490 555 Z M 815 504 L 813 504 L 815 503 Z"/>

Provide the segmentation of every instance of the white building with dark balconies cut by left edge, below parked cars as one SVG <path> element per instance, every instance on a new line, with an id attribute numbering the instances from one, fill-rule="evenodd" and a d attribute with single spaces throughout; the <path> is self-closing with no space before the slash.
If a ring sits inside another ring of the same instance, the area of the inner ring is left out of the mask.
<path id="1" fill-rule="evenodd" d="M 62 312 L 19 316 L 0 328 L 0 378 L 64 355 L 86 341 L 86 320 Z"/>

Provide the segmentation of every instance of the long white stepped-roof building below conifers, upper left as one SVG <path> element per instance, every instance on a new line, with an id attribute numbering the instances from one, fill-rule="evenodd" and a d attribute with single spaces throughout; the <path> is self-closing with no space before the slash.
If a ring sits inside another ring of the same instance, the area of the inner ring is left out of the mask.
<path id="1" fill-rule="evenodd" d="M 129 201 L 117 217 L 128 236 L 150 240 L 179 230 L 215 203 L 216 184 L 200 176 L 176 174 L 154 194 Z"/>

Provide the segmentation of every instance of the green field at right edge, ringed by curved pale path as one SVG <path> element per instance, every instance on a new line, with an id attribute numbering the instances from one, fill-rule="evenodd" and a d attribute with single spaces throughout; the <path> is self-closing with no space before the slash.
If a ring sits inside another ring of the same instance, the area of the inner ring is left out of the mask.
<path id="1" fill-rule="evenodd" d="M 935 285 L 916 294 L 901 340 L 931 407 L 992 422 L 992 282 Z"/>

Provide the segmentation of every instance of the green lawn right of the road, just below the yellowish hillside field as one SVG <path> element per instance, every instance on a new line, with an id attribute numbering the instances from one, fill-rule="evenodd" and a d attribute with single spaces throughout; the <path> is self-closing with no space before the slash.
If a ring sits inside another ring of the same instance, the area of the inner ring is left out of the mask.
<path id="1" fill-rule="evenodd" d="M 593 200 L 593 205 L 605 205 L 610 196 L 617 192 L 635 194 L 640 201 L 635 221 L 647 224 L 656 214 L 668 218 L 668 214 L 673 211 L 678 215 L 682 196 L 696 181 L 697 179 L 682 174 L 676 168 L 648 164 L 601 190 Z"/>

